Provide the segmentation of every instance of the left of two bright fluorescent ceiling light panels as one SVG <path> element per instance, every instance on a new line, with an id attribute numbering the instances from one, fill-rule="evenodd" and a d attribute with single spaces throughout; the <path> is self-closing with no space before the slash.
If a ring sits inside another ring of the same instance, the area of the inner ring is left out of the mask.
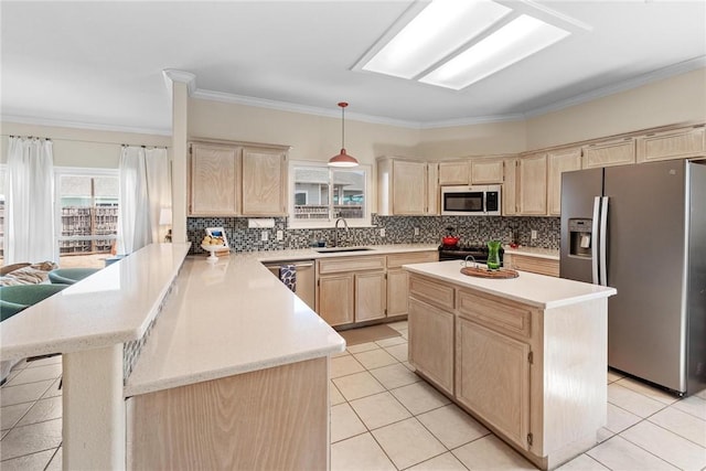
<path id="1" fill-rule="evenodd" d="M 511 11 L 490 0 L 435 0 L 381 49 L 363 69 L 413 78 Z"/>

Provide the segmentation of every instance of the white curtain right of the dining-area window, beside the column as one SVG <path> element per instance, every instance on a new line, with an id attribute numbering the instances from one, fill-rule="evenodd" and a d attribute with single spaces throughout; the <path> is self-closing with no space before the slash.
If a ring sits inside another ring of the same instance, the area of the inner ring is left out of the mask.
<path id="1" fill-rule="evenodd" d="M 124 146 L 120 156 L 118 254 L 131 254 L 159 238 L 159 213 L 171 207 L 167 149 Z"/>

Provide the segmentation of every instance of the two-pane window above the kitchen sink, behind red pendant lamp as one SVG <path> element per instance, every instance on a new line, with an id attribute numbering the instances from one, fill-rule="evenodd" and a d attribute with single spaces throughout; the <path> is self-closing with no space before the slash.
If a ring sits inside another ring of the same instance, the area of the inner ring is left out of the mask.
<path id="1" fill-rule="evenodd" d="M 332 169 L 325 163 L 291 162 L 290 227 L 330 227 L 339 217 L 370 225 L 368 165 Z"/>

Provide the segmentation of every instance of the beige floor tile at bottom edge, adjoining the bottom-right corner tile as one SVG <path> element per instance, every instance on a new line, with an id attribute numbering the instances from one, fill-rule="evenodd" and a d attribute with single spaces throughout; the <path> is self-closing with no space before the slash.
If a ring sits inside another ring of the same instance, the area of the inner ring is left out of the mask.
<path id="1" fill-rule="evenodd" d="M 620 471 L 677 469 L 620 436 L 614 436 L 610 440 L 591 448 L 586 454 L 607 468 Z"/>

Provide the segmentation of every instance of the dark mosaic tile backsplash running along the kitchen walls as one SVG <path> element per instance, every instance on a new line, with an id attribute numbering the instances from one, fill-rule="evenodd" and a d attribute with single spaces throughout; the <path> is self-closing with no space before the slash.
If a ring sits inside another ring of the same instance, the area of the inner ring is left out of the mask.
<path id="1" fill-rule="evenodd" d="M 275 218 L 275 227 L 248 228 L 247 217 L 189 217 L 186 237 L 192 243 L 191 251 L 203 253 L 201 239 L 206 227 L 223 227 L 231 247 L 236 251 L 281 250 L 286 248 L 307 248 L 312 240 L 324 240 L 331 245 L 334 229 L 288 229 L 287 218 Z M 559 217 L 505 217 L 505 216 L 378 216 L 373 215 L 374 227 L 339 228 L 339 245 L 381 245 L 381 244 L 439 244 L 447 234 L 446 227 L 453 227 L 454 235 L 461 237 L 461 244 L 484 244 L 490 239 L 500 239 L 503 244 L 512 242 L 515 234 L 521 245 L 545 248 L 559 248 Z M 385 229 L 385 237 L 379 235 Z M 415 235 L 415 228 L 419 235 Z M 261 240 L 261 232 L 268 231 L 268 239 Z M 277 240 L 277 231 L 282 231 L 284 240 Z M 532 231 L 537 238 L 532 239 Z"/>

